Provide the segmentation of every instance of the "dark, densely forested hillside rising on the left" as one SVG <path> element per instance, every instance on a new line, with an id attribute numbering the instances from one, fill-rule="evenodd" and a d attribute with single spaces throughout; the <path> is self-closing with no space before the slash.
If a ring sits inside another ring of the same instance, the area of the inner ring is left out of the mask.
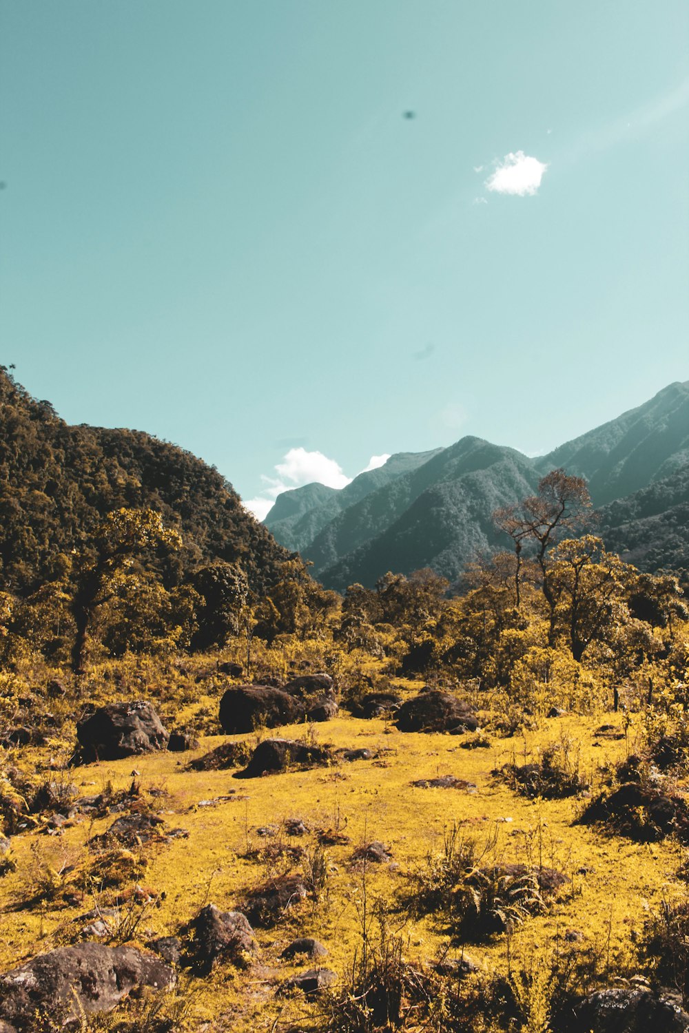
<path id="1" fill-rule="evenodd" d="M 168 583 L 223 559 L 261 591 L 288 556 L 213 467 L 140 431 L 70 427 L 0 367 L 0 588 L 26 594 L 51 581 L 61 554 L 122 506 L 156 509 L 181 532 Z"/>

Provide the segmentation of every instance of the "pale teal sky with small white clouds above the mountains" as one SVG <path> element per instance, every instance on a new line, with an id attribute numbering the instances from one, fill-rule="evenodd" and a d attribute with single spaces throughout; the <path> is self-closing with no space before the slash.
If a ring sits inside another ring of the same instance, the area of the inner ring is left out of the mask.
<path id="1" fill-rule="evenodd" d="M 686 0 L 0 0 L 0 363 L 263 516 L 689 379 Z"/>

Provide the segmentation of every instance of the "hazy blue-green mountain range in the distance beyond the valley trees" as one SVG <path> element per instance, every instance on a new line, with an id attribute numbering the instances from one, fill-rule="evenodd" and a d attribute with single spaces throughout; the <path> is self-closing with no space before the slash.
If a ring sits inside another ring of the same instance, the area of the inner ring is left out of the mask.
<path id="1" fill-rule="evenodd" d="M 341 491 L 309 484 L 284 493 L 269 513 L 277 540 L 311 560 L 327 587 L 370 586 L 387 570 L 422 566 L 455 580 L 477 552 L 507 545 L 491 512 L 532 494 L 556 467 L 586 477 L 609 547 L 641 569 L 687 567 L 689 382 L 669 384 L 547 456 L 466 437 L 388 463 Z"/>

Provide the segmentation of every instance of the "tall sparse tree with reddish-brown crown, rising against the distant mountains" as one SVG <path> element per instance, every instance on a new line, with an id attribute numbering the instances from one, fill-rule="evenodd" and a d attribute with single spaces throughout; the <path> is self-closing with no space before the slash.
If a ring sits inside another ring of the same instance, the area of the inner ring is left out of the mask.
<path id="1" fill-rule="evenodd" d="M 514 542 L 518 607 L 521 604 L 522 549 L 525 541 L 533 545 L 535 561 L 540 570 L 541 589 L 550 612 L 551 646 L 555 635 L 556 600 L 547 578 L 549 550 L 563 534 L 581 526 L 590 509 L 591 496 L 584 477 L 570 477 L 562 468 L 558 468 L 541 477 L 537 495 L 530 495 L 523 502 L 503 506 L 493 512 L 496 526 Z"/>

